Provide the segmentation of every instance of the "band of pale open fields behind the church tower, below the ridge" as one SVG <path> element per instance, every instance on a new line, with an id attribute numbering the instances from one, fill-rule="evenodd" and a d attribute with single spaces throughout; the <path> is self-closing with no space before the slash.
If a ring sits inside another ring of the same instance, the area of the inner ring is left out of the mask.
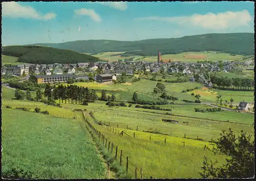
<path id="1" fill-rule="evenodd" d="M 111 56 L 115 54 L 123 54 L 125 51 L 117 51 L 117 52 L 104 52 L 100 53 L 97 55 L 93 55 L 95 57 L 100 58 L 101 60 L 108 60 L 108 61 L 118 61 L 118 59 L 127 59 L 134 57 L 134 61 L 146 61 L 146 62 L 157 62 L 157 56 L 130 56 L 130 57 L 120 57 L 120 56 Z M 243 61 L 244 56 L 242 55 L 236 55 L 236 56 L 230 56 L 230 54 L 224 54 L 224 53 L 214 53 L 213 51 L 207 52 L 184 52 L 180 54 L 169 54 L 169 55 L 162 55 L 162 59 L 172 59 L 172 61 L 182 61 L 182 62 L 197 62 L 197 61 L 202 61 L 202 59 L 189 59 L 186 58 L 187 55 L 208 55 L 208 60 L 209 61 L 220 61 L 220 60 L 225 60 L 225 61 Z M 207 58 L 205 59 L 207 60 Z"/>

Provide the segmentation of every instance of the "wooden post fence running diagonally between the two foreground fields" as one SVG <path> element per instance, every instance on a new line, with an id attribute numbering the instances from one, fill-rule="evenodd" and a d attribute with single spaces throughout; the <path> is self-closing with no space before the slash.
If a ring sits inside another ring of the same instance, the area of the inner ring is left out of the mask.
<path id="1" fill-rule="evenodd" d="M 81 110 L 82 111 L 82 110 Z M 152 176 L 148 177 L 143 174 L 142 167 L 138 168 L 135 164 L 133 164 L 129 157 L 125 157 L 123 154 L 123 150 L 118 149 L 118 145 L 114 144 L 113 142 L 109 141 L 100 131 L 97 130 L 89 121 L 84 117 L 82 111 L 83 120 L 88 124 L 88 126 L 92 129 L 92 133 L 96 135 L 96 138 L 102 143 L 105 148 L 115 155 L 115 159 L 119 161 L 120 166 L 125 166 L 125 170 L 128 173 L 132 172 L 135 178 L 152 178 Z M 103 123 L 104 124 L 104 123 Z M 106 124 L 105 124 L 106 125 Z M 120 133 L 119 133 L 120 134 Z"/>

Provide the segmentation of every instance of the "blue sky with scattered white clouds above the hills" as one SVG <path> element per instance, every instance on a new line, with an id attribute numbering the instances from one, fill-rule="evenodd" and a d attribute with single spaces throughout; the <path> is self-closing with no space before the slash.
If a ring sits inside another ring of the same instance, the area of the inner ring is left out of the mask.
<path id="1" fill-rule="evenodd" d="M 252 2 L 5 2 L 2 45 L 254 33 Z"/>

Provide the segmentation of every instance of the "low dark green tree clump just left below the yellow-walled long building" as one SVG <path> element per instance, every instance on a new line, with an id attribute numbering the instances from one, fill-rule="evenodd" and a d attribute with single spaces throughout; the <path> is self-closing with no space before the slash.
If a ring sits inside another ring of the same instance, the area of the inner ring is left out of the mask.
<path id="1" fill-rule="evenodd" d="M 45 88 L 45 84 L 37 84 L 31 81 L 18 82 L 18 80 L 9 80 L 7 83 L 10 87 L 20 90 L 36 91 L 38 88 Z"/>

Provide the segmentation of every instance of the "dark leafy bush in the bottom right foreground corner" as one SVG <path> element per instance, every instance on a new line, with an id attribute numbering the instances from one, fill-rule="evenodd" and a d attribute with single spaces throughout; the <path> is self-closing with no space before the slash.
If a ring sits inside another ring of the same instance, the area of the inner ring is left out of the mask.
<path id="1" fill-rule="evenodd" d="M 229 132 L 222 131 L 220 138 L 212 149 L 206 147 L 215 154 L 227 156 L 226 164 L 215 167 L 218 163 L 208 163 L 204 157 L 202 171 L 199 172 L 203 178 L 248 178 L 254 176 L 254 140 L 251 135 L 243 131 L 236 137 L 231 128 Z"/>

